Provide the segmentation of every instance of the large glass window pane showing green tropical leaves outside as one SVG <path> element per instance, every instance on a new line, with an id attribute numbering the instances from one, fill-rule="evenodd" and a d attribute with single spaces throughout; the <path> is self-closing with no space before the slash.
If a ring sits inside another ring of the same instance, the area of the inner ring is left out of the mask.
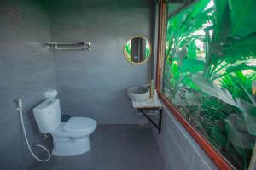
<path id="1" fill-rule="evenodd" d="M 256 139 L 255 7 L 199 0 L 169 18 L 166 31 L 163 93 L 238 169 L 249 166 Z"/>

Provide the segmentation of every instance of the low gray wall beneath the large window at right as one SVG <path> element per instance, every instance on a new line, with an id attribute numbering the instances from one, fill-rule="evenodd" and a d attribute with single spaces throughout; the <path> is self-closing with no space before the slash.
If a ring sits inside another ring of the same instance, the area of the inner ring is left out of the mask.
<path id="1" fill-rule="evenodd" d="M 163 111 L 161 134 L 159 135 L 154 128 L 153 132 L 166 170 L 218 169 L 166 107 Z"/>

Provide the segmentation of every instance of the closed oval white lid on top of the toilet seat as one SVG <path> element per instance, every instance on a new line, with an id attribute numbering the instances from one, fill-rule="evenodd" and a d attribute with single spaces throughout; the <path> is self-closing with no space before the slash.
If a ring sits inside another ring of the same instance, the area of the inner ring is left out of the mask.
<path id="1" fill-rule="evenodd" d="M 81 133 L 95 127 L 96 121 L 93 119 L 88 117 L 71 117 L 63 128 L 68 133 Z"/>

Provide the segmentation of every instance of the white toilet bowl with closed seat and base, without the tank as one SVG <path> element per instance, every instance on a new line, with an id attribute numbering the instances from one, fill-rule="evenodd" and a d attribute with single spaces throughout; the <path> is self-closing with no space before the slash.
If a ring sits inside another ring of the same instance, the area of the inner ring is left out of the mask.
<path id="1" fill-rule="evenodd" d="M 89 136 L 96 129 L 96 121 L 86 117 L 72 117 L 61 124 L 51 135 L 54 139 L 53 155 L 83 154 L 90 150 Z"/>

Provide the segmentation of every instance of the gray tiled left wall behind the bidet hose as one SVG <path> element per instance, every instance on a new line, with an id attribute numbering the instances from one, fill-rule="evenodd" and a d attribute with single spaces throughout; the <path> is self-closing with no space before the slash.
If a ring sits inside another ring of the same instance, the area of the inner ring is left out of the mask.
<path id="1" fill-rule="evenodd" d="M 26 147 L 14 100 L 23 99 L 26 130 L 32 143 L 42 135 L 32 108 L 44 99 L 46 89 L 56 88 L 53 54 L 42 46 L 49 39 L 44 4 L 21 0 L 0 2 L 1 170 L 26 169 L 34 161 Z"/>

